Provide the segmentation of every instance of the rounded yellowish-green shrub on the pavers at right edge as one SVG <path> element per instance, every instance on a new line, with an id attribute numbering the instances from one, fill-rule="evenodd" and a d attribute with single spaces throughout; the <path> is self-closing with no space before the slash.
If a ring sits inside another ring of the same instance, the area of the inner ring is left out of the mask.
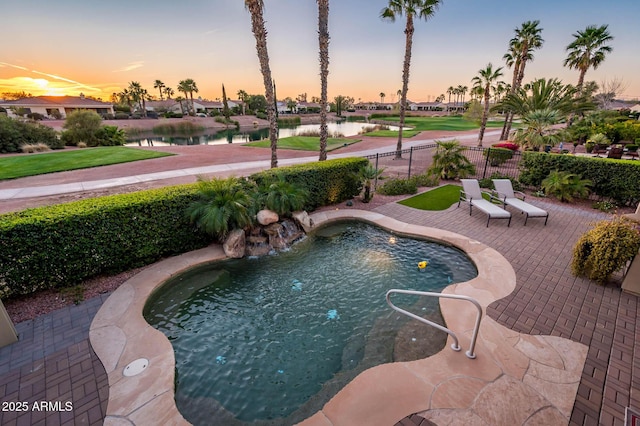
<path id="1" fill-rule="evenodd" d="M 640 249 L 640 233 L 627 219 L 615 217 L 595 224 L 573 247 L 571 271 L 606 283 Z"/>

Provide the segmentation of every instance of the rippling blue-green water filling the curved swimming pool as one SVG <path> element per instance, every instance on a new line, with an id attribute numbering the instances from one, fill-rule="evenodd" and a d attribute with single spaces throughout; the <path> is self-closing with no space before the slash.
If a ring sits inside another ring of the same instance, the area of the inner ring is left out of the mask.
<path id="1" fill-rule="evenodd" d="M 429 264 L 420 271 L 423 260 Z M 188 421 L 292 424 L 364 369 L 394 361 L 410 320 L 388 307 L 387 290 L 440 291 L 476 275 L 456 248 L 343 223 L 287 252 L 182 274 L 153 295 L 144 315 L 173 345 L 176 403 Z M 438 312 L 435 299 L 394 303 Z M 434 352 L 444 345 L 441 334 Z"/>

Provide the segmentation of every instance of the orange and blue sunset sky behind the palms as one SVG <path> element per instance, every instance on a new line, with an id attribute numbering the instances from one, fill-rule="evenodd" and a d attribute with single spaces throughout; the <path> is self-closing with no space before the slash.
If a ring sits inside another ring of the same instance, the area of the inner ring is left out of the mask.
<path id="1" fill-rule="evenodd" d="M 401 87 L 404 18 L 379 18 L 385 0 L 330 3 L 329 97 L 395 101 Z M 416 22 L 409 98 L 433 100 L 449 86 L 471 86 L 488 62 L 502 56 L 514 29 L 540 20 L 545 40 L 527 65 L 525 80 L 558 77 L 575 84 L 564 68 L 572 34 L 608 24 L 613 52 L 586 80 L 621 79 L 623 98 L 640 98 L 640 1 L 445 0 L 428 21 Z M 265 0 L 268 48 L 278 98 L 320 94 L 317 3 Z M 239 89 L 264 93 L 242 0 L 21 0 L 2 2 L 0 93 L 85 95 L 108 100 L 130 81 L 151 94 L 156 79 L 176 88 L 195 80 L 198 95 L 229 97 Z M 503 79 L 511 80 L 504 69 Z"/>

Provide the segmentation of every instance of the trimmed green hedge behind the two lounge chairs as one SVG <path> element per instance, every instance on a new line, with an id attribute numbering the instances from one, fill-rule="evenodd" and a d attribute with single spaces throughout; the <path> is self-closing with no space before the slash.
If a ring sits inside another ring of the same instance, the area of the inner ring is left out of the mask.
<path id="1" fill-rule="evenodd" d="M 640 161 L 525 152 L 520 167 L 524 185 L 540 186 L 551 171 L 567 171 L 590 179 L 596 195 L 622 205 L 640 201 Z"/>

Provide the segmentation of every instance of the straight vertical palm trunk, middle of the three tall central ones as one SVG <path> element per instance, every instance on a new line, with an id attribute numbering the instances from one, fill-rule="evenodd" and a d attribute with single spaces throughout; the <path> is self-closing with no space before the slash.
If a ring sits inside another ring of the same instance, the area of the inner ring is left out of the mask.
<path id="1" fill-rule="evenodd" d="M 318 0 L 318 43 L 320 45 L 320 155 L 327 159 L 327 77 L 329 75 L 329 0 Z"/>

